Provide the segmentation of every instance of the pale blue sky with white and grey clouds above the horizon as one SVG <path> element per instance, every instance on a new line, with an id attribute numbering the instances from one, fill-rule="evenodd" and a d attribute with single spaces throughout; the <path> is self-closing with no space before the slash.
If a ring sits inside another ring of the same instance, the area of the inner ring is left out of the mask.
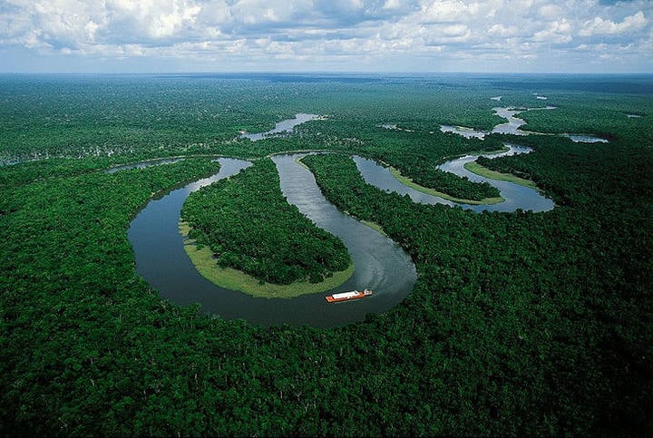
<path id="1" fill-rule="evenodd" d="M 653 73 L 653 0 L 0 0 L 2 73 Z"/>

